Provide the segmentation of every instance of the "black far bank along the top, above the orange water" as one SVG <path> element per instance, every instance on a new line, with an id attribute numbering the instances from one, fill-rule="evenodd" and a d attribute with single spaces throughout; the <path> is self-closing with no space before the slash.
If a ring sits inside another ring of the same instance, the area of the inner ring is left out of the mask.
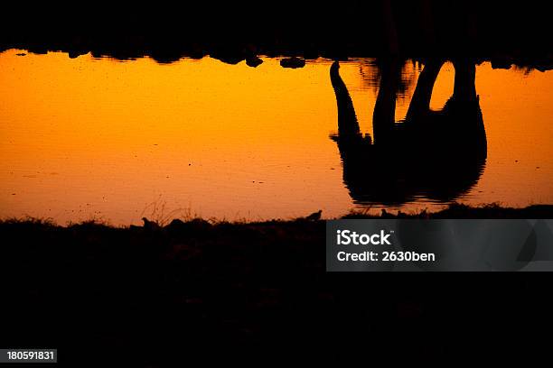
<path id="1" fill-rule="evenodd" d="M 6 12 L 22 18 L 6 16 L 0 23 L 0 51 L 64 51 L 70 58 L 91 52 L 116 60 L 147 56 L 160 63 L 209 55 L 230 64 L 259 55 L 344 60 L 394 54 L 401 59 L 490 60 L 498 68 L 553 68 L 550 19 L 539 2 L 428 0 L 432 9 L 424 14 L 424 1 L 392 0 L 393 19 L 388 20 L 382 3 L 260 5 L 247 0 L 187 3 L 182 9 L 23 3 Z M 397 51 L 390 50 L 389 27 L 397 33 Z"/>

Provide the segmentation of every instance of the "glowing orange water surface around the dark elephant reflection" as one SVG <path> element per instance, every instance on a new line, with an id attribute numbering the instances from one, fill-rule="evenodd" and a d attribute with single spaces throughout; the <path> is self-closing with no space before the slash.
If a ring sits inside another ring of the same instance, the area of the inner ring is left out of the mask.
<path id="1" fill-rule="evenodd" d="M 0 217 L 302 216 L 354 207 L 342 182 L 330 62 L 257 69 L 218 60 L 71 60 L 0 54 Z M 417 66 L 406 76 L 417 78 Z M 370 60 L 342 63 L 363 131 L 376 92 Z M 553 203 L 553 73 L 477 69 L 486 168 L 459 198 L 510 206 Z M 451 95 L 447 64 L 433 107 Z M 405 115 L 412 88 L 398 99 Z M 153 206 L 155 203 L 157 206 Z M 439 207 L 420 198 L 404 210 Z M 378 204 L 375 205 L 378 207 Z"/>

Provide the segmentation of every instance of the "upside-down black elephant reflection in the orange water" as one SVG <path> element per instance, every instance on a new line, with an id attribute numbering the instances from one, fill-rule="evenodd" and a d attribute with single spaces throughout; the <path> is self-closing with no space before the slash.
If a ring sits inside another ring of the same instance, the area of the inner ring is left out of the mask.
<path id="1" fill-rule="evenodd" d="M 453 60 L 453 96 L 440 111 L 430 110 L 430 98 L 444 60 L 429 60 L 404 121 L 395 122 L 401 63 L 380 68 L 380 88 L 373 113 L 373 138 L 363 136 L 350 94 L 331 67 L 338 104 L 338 134 L 331 138 L 342 156 L 343 180 L 356 203 L 398 206 L 416 198 L 452 201 L 480 178 L 487 144 L 479 97 L 474 86 L 475 65 Z"/>

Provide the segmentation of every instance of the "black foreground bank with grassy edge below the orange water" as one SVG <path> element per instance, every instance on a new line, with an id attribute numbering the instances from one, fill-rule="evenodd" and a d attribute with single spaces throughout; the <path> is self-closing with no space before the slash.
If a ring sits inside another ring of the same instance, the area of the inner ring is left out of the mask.
<path id="1" fill-rule="evenodd" d="M 552 216 L 551 206 L 417 215 Z M 0 222 L 0 345 L 58 348 L 66 366 L 474 363 L 506 352 L 522 363 L 548 351 L 538 336 L 553 327 L 549 274 L 326 273 L 324 226 Z"/>

